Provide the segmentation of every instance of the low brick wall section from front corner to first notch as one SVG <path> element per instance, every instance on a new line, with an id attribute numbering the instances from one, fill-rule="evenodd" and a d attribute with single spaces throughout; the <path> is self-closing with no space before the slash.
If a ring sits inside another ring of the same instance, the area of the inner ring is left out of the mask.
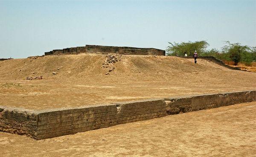
<path id="1" fill-rule="evenodd" d="M 116 125 L 115 105 L 43 111 L 38 114 L 36 139 L 45 139 Z"/>

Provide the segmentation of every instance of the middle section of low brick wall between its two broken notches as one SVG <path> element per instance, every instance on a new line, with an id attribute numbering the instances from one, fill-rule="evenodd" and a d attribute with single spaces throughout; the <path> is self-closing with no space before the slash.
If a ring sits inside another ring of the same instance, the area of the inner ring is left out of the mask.
<path id="1" fill-rule="evenodd" d="M 123 102 L 116 106 L 118 124 L 166 116 L 166 103 L 162 99 Z"/>

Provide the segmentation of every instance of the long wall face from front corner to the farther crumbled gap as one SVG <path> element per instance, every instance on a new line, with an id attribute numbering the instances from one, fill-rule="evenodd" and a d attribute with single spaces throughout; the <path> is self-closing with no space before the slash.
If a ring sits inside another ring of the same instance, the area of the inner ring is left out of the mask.
<path id="1" fill-rule="evenodd" d="M 115 105 L 41 111 L 38 114 L 37 140 L 74 134 L 117 124 L 166 116 L 163 100 L 122 102 Z"/>

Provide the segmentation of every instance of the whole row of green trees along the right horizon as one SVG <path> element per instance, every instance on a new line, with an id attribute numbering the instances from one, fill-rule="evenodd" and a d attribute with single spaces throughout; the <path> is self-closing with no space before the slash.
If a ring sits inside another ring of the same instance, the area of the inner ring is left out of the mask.
<path id="1" fill-rule="evenodd" d="M 166 49 L 167 55 L 184 56 L 185 53 L 192 56 L 196 50 L 198 56 L 214 56 L 223 61 L 233 61 L 234 65 L 239 62 L 250 64 L 256 61 L 256 47 L 241 45 L 240 43 L 225 42 L 225 46 L 218 49 L 207 49 L 207 41 L 188 41 L 181 43 L 171 43 Z"/>

